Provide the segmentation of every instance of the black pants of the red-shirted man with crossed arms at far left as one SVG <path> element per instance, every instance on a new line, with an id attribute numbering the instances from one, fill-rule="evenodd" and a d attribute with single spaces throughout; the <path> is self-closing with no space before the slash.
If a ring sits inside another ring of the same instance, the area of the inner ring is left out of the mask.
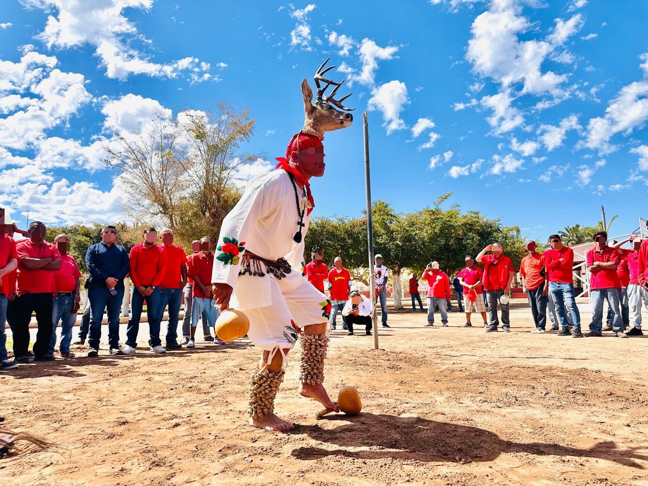
<path id="1" fill-rule="evenodd" d="M 29 321 L 36 312 L 38 332 L 34 343 L 34 356 L 45 356 L 52 338 L 52 294 L 23 294 L 17 297 L 16 329 L 14 330 L 14 356 L 27 356 L 29 351 Z"/>

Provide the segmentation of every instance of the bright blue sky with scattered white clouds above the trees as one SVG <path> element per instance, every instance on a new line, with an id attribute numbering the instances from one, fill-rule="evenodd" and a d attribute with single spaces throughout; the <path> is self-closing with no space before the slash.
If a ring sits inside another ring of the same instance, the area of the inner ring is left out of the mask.
<path id="1" fill-rule="evenodd" d="M 264 157 L 246 173 L 268 170 L 330 56 L 356 120 L 325 139 L 315 214 L 364 208 L 368 109 L 373 197 L 398 211 L 453 192 L 544 240 L 603 204 L 627 233 L 648 214 L 648 3 L 606 5 L 4 0 L 0 203 L 23 221 L 124 219 L 104 146 L 219 100 L 251 110 L 245 150 Z"/>

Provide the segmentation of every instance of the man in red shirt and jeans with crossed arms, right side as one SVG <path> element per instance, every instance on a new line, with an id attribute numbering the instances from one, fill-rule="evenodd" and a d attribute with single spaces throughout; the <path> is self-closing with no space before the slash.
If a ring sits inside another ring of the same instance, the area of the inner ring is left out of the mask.
<path id="1" fill-rule="evenodd" d="M 607 233 L 597 231 L 592 237 L 596 246 L 587 252 L 586 264 L 590 271 L 590 295 L 592 296 L 592 323 L 588 337 L 599 337 L 603 330 L 603 301 L 607 300 L 608 306 L 614 312 L 612 329 L 619 338 L 627 338 L 623 332 L 623 320 L 619 310 L 619 275 L 616 269 L 619 266 L 619 253 L 616 248 L 607 246 Z"/>

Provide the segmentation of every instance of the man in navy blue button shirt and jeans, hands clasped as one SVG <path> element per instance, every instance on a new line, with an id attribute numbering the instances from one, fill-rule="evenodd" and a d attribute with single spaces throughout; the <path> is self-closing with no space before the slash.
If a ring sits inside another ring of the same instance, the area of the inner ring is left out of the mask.
<path id="1" fill-rule="evenodd" d="M 87 289 L 90 302 L 90 349 L 87 355 L 91 358 L 99 353 L 101 319 L 106 308 L 110 354 L 124 354 L 119 349 L 119 310 L 124 298 L 124 278 L 130 270 L 128 251 L 115 243 L 117 228 L 114 226 L 104 227 L 101 239 L 86 252 L 86 266 L 91 278 Z"/>

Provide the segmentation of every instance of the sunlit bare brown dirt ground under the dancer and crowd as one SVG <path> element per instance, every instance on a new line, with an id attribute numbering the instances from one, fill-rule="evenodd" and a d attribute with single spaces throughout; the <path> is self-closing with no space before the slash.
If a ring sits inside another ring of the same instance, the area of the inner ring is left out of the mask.
<path id="1" fill-rule="evenodd" d="M 325 384 L 356 386 L 364 410 L 315 419 L 294 352 L 276 401 L 288 434 L 246 426 L 246 340 L 24 365 L 0 375 L 6 427 L 71 454 L 0 459 L 0 484 L 648 485 L 648 333 L 534 335 L 513 307 L 510 334 L 392 314 L 377 351 L 338 325 Z"/>

